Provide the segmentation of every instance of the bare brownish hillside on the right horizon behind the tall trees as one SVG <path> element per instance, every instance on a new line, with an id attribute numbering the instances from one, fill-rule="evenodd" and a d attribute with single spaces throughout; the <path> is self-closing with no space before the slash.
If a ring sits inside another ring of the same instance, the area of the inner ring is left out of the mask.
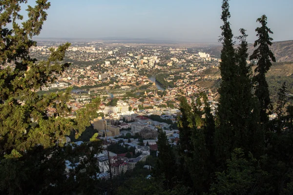
<path id="1" fill-rule="evenodd" d="M 205 49 L 208 54 L 220 58 L 222 46 L 215 46 Z M 248 45 L 248 52 L 251 55 L 254 50 L 253 44 Z M 271 50 L 277 62 L 293 61 L 293 40 L 273 42 Z"/>

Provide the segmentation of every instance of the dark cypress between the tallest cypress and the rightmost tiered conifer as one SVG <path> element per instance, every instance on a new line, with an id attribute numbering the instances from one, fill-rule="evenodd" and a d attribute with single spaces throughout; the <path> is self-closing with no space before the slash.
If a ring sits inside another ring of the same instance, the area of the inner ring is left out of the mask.
<path id="1" fill-rule="evenodd" d="M 238 66 L 237 89 L 238 105 L 235 112 L 237 127 L 233 148 L 242 148 L 246 154 L 251 152 L 260 155 L 262 150 L 263 133 L 259 127 L 259 109 L 257 99 L 252 93 L 251 65 L 247 64 L 248 43 L 245 29 L 239 30 L 241 35 L 237 38 L 240 45 L 236 50 Z"/>

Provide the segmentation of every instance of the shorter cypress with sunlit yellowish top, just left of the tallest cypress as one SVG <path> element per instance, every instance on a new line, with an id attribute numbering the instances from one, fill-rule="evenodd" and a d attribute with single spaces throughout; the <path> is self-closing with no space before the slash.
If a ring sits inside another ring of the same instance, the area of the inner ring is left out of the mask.
<path id="1" fill-rule="evenodd" d="M 205 103 L 204 112 L 199 109 L 202 104 L 200 99 L 203 99 Z M 196 105 L 192 106 L 194 108 L 193 115 L 195 115 L 191 136 L 193 150 L 192 156 L 185 158 L 189 175 L 193 181 L 191 186 L 198 194 L 208 191 L 214 171 L 213 135 L 215 123 L 207 99 L 206 94 L 200 93 Z M 203 114 L 205 114 L 205 118 L 196 119 Z"/>

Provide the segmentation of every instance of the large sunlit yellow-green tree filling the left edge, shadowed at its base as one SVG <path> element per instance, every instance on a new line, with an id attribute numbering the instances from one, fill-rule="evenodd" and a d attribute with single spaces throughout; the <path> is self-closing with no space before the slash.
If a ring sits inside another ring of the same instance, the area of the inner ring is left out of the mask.
<path id="1" fill-rule="evenodd" d="M 56 194 L 63 192 L 69 183 L 71 190 L 77 192 L 81 173 L 76 170 L 72 177 L 65 176 L 66 151 L 62 147 L 71 131 L 78 138 L 90 126 L 101 100 L 94 99 L 77 111 L 76 119 L 70 119 L 66 117 L 71 112 L 66 105 L 70 88 L 64 92 L 37 94 L 70 66 L 63 62 L 70 43 L 50 48 L 48 59 L 31 58 L 29 50 L 37 45 L 32 37 L 40 34 L 50 3 L 37 0 L 34 7 L 28 5 L 28 19 L 19 24 L 23 19 L 19 14 L 21 3 L 26 1 L 0 1 L 0 176 L 3 178 L 0 194 Z M 48 108 L 54 110 L 51 116 L 47 116 Z M 96 170 L 91 155 L 101 146 L 100 142 L 93 143 L 95 149 L 88 151 L 90 155 L 85 160 L 89 163 L 88 170 L 90 167 Z M 91 178 L 97 181 L 92 173 L 82 174 L 84 181 Z M 74 176 L 77 179 L 71 180 Z M 78 191 L 85 190 L 81 187 Z"/>

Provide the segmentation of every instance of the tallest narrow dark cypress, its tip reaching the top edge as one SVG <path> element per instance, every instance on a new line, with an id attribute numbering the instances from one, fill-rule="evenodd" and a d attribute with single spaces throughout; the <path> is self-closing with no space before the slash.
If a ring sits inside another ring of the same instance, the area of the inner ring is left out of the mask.
<path id="1" fill-rule="evenodd" d="M 235 49 L 232 41 L 233 34 L 230 28 L 229 0 L 223 0 L 221 19 L 224 24 L 221 26 L 221 41 L 223 48 L 221 51 L 220 71 L 222 82 L 219 88 L 219 106 L 217 113 L 218 127 L 215 131 L 215 154 L 217 160 L 224 164 L 230 157 L 233 146 L 233 133 L 235 131 L 235 109 L 240 102 L 237 101 L 237 74 Z"/>

